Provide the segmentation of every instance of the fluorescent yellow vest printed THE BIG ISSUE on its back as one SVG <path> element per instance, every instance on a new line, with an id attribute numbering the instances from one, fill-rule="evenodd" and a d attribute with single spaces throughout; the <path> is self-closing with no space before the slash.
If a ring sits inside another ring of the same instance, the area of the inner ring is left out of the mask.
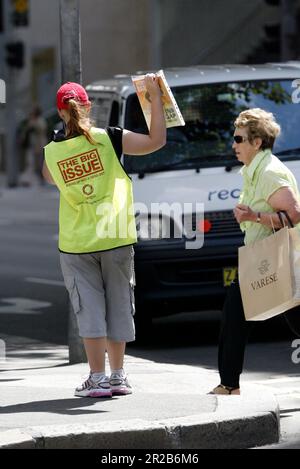
<path id="1" fill-rule="evenodd" d="M 45 147 L 45 160 L 60 191 L 59 249 L 68 253 L 105 251 L 136 242 L 132 183 L 110 138 L 91 129 Z"/>

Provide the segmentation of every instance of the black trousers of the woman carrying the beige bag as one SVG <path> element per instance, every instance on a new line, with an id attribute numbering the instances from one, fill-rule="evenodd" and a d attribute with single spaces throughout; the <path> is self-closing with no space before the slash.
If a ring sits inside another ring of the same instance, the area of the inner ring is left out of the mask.
<path id="1" fill-rule="evenodd" d="M 246 343 L 257 322 L 245 320 L 239 283 L 232 283 L 224 303 L 219 339 L 218 366 L 224 386 L 239 387 Z"/>

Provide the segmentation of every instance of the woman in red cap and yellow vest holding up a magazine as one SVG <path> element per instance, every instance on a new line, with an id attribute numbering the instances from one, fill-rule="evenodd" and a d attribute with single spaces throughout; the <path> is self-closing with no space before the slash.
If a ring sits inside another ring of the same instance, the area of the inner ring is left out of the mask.
<path id="1" fill-rule="evenodd" d="M 165 145 L 166 126 L 155 75 L 145 78 L 151 96 L 148 135 L 90 121 L 85 89 L 65 83 L 57 92 L 64 131 L 45 147 L 43 174 L 60 191 L 59 250 L 66 288 L 83 338 L 90 375 L 76 396 L 132 392 L 123 368 L 126 342 L 135 338 L 132 183 L 120 157 L 144 155 Z M 106 376 L 105 353 L 110 376 Z"/>

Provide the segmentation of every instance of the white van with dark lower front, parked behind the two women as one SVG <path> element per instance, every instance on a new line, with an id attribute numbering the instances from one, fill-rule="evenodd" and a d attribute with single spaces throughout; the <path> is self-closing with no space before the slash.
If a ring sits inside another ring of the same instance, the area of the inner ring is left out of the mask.
<path id="1" fill-rule="evenodd" d="M 186 125 L 168 129 L 167 145 L 158 152 L 124 155 L 122 163 L 132 178 L 137 203 L 203 203 L 204 245 L 186 249 L 189 231 L 197 231 L 196 212 L 181 238 L 173 237 L 172 230 L 164 233 L 170 212 L 160 214 L 159 229 L 157 217 L 150 219 L 156 223 L 155 239 L 139 226 L 141 237 L 135 248 L 139 326 L 147 326 L 154 316 L 222 307 L 243 242 L 232 212 L 242 185 L 232 150 L 233 122 L 242 110 L 261 107 L 274 113 L 282 128 L 274 153 L 300 184 L 300 105 L 296 104 L 300 64 L 193 66 L 164 72 Z M 99 127 L 120 125 L 147 132 L 130 76 L 92 83 L 87 91 Z M 172 226 L 174 220 L 170 222 Z"/>

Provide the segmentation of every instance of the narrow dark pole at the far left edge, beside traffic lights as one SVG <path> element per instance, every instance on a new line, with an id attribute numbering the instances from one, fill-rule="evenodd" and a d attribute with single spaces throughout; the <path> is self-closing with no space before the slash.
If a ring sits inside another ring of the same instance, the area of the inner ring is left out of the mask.
<path id="1" fill-rule="evenodd" d="M 13 42 L 14 30 L 12 25 L 12 4 L 11 2 L 3 2 L 4 16 L 4 47 L 5 44 Z M 8 187 L 16 187 L 18 185 L 18 152 L 17 152 L 17 119 L 16 119 L 16 71 L 5 64 L 5 83 L 6 83 L 6 118 L 5 118 L 5 169 L 6 181 Z M 2 77 L 1 77 L 2 78 Z"/>

